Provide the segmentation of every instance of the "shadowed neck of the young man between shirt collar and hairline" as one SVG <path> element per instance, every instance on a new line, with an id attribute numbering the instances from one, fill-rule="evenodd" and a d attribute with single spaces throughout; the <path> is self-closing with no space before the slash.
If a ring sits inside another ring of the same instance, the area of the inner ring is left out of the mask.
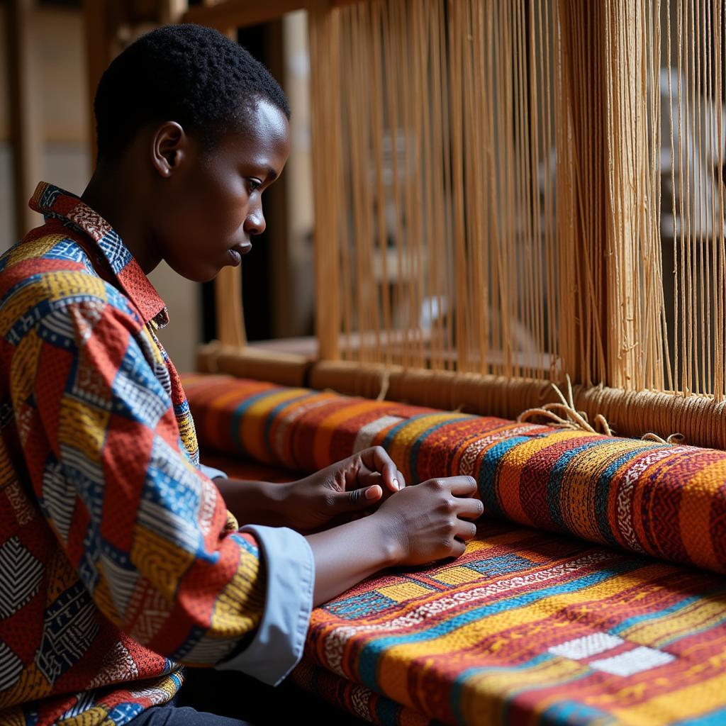
<path id="1" fill-rule="evenodd" d="M 142 184 L 136 184 L 136 175 L 129 174 L 123 160 L 101 160 L 91 176 L 81 200 L 99 213 L 118 234 L 144 274 L 149 274 L 160 263 L 155 251 L 152 231 L 144 213 L 145 194 Z"/>

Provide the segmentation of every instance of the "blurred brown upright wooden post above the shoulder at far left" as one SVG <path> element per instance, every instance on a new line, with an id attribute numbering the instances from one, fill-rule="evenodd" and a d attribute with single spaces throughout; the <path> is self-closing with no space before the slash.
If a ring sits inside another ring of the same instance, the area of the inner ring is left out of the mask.
<path id="1" fill-rule="evenodd" d="M 6 44 L 9 70 L 10 138 L 15 195 L 15 236 L 41 224 L 28 199 L 43 176 L 43 121 L 33 32 L 33 0 L 7 3 Z"/>

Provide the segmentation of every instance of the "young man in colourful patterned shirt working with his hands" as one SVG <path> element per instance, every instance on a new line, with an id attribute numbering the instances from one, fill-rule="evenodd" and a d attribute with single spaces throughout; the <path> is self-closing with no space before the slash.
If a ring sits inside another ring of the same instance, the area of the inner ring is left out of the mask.
<path id="1" fill-rule="evenodd" d="M 240 46 L 181 25 L 129 46 L 95 111 L 86 191 L 40 184 L 46 223 L 0 258 L 0 721 L 221 723 L 172 703 L 183 664 L 279 682 L 312 605 L 460 554 L 482 507 L 468 477 L 404 489 L 380 448 L 287 486 L 211 481 L 146 275 L 240 264 L 287 102 Z"/>

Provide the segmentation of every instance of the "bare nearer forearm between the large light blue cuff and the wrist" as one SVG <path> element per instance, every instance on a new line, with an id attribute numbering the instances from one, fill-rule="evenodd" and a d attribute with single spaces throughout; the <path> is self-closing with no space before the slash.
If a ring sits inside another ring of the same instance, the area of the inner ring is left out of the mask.
<path id="1" fill-rule="evenodd" d="M 388 536 L 375 515 L 310 534 L 306 539 L 315 558 L 316 607 L 400 559 L 395 539 Z"/>

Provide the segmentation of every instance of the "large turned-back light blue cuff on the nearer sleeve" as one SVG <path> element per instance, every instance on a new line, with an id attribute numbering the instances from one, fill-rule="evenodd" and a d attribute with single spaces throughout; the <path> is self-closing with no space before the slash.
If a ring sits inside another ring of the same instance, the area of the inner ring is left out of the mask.
<path id="1" fill-rule="evenodd" d="M 250 645 L 215 667 L 277 685 L 303 655 L 313 605 L 315 560 L 306 539 L 293 529 L 250 524 L 240 531 L 255 537 L 264 558 L 265 609 Z"/>

